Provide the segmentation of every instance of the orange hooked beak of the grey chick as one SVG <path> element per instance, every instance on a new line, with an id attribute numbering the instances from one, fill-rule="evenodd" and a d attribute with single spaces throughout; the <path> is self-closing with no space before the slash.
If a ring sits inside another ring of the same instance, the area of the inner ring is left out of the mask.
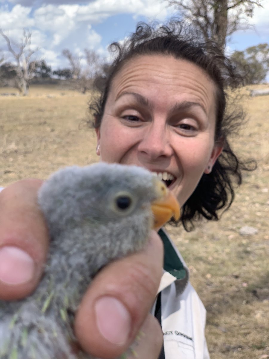
<path id="1" fill-rule="evenodd" d="M 171 217 L 178 220 L 180 217 L 179 202 L 165 184 L 153 178 L 157 199 L 151 203 L 151 210 L 154 215 L 154 228 L 160 228 Z"/>

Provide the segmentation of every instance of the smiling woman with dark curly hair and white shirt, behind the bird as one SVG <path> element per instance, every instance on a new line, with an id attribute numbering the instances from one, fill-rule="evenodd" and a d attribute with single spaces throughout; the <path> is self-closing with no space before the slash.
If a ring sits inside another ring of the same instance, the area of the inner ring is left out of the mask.
<path id="1" fill-rule="evenodd" d="M 232 177 L 240 184 L 241 171 L 251 169 L 228 140 L 243 116 L 240 109 L 227 113 L 225 91 L 241 76 L 216 45 L 184 34 L 178 23 L 140 24 L 126 42 L 111 46 L 117 57 L 90 104 L 96 153 L 155 172 L 178 198 L 185 229 L 201 216 L 218 219 L 233 201 Z M 160 358 L 208 358 L 204 307 L 179 252 L 164 230 L 159 235 L 165 274 L 153 308 L 164 333 Z"/>

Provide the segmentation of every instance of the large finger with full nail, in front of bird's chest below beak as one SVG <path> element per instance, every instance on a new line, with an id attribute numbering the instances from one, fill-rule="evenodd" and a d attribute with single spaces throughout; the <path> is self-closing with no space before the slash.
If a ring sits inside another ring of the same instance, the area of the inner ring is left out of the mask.
<path id="1" fill-rule="evenodd" d="M 85 351 L 106 359 L 127 350 L 156 297 L 162 262 L 162 242 L 152 231 L 143 251 L 99 272 L 75 320 L 76 337 Z"/>

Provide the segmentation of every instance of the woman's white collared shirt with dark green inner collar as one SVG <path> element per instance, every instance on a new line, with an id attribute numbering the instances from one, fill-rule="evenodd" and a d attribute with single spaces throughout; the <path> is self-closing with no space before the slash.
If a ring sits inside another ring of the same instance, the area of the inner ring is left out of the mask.
<path id="1" fill-rule="evenodd" d="M 204 336 L 206 309 L 189 282 L 189 271 L 179 251 L 164 229 L 159 235 L 165 252 L 158 290 L 165 359 L 209 359 Z"/>

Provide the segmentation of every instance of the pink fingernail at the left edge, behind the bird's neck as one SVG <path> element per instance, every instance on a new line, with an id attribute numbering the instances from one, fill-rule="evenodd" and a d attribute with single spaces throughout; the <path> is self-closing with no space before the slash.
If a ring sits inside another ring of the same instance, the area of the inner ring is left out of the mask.
<path id="1" fill-rule="evenodd" d="M 6 284 L 22 284 L 34 277 L 35 265 L 28 253 L 20 248 L 0 248 L 0 280 Z"/>

